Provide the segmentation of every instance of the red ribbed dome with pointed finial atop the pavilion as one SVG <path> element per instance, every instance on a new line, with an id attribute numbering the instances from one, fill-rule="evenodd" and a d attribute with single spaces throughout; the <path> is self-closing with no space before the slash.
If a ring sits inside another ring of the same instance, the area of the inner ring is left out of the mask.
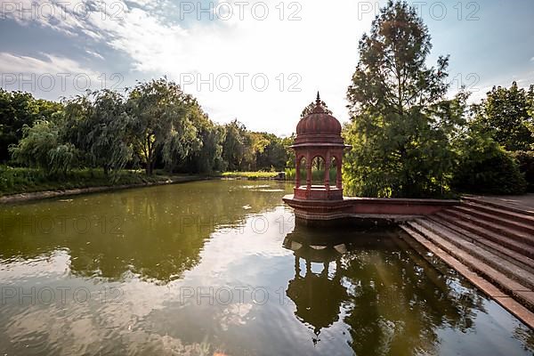
<path id="1" fill-rule="evenodd" d="M 341 124 L 322 107 L 319 93 L 312 113 L 301 118 L 296 125 L 295 145 L 305 142 L 343 144 Z"/>

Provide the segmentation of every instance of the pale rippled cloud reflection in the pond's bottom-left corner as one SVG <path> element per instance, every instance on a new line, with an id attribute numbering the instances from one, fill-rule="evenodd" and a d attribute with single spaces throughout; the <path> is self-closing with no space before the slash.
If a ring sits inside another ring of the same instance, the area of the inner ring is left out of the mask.
<path id="1" fill-rule="evenodd" d="M 102 310 L 101 312 L 109 312 Z M 132 327 L 124 309 L 113 314 L 95 316 L 90 308 L 77 306 L 75 312 L 51 312 L 32 306 L 24 314 L 7 320 L 6 336 L 12 342 L 26 345 L 26 351 L 35 354 L 74 355 L 116 353 L 138 354 L 140 347 L 158 355 L 204 356 L 210 353 L 208 344 L 184 344 L 181 339 L 158 335 Z M 58 317 L 61 315 L 61 326 Z M 54 328 L 51 328 L 54 326 Z M 31 337 L 29 337 L 31 336 Z M 112 350 L 102 349 L 97 340 L 113 339 Z M 124 352 L 123 351 L 123 352 Z"/>

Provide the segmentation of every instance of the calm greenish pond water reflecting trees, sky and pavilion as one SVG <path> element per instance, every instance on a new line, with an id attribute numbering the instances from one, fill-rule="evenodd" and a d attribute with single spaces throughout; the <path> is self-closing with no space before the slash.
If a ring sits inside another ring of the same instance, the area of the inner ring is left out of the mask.
<path id="1" fill-rule="evenodd" d="M 295 226 L 290 190 L 209 181 L 0 207 L 0 354 L 532 354 L 529 328 L 398 231 Z"/>

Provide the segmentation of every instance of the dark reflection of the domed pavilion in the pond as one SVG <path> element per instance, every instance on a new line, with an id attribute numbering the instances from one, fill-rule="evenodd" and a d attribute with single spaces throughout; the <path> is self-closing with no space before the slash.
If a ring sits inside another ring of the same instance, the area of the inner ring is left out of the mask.
<path id="1" fill-rule="evenodd" d="M 341 285 L 340 257 L 345 246 L 310 244 L 302 232 L 294 231 L 287 235 L 284 247 L 295 253 L 295 278 L 289 281 L 286 295 L 296 305 L 297 318 L 310 324 L 315 335 L 319 335 L 322 328 L 339 320 L 341 304 L 348 298 Z M 301 259 L 305 262 L 304 271 L 301 271 Z M 322 263 L 322 271 L 313 272 L 312 263 Z M 331 266 L 333 263 L 335 268 Z"/>

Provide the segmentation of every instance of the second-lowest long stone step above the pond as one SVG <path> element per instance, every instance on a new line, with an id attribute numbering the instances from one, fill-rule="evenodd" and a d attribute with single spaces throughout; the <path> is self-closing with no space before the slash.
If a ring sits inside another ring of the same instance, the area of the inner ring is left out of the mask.
<path id="1" fill-rule="evenodd" d="M 456 257 L 459 261 L 463 261 L 464 254 L 456 255 L 457 250 L 465 252 L 465 254 L 473 256 L 483 263 L 490 265 L 495 270 L 504 273 L 506 277 L 514 279 L 516 282 L 522 284 L 525 287 L 529 287 L 530 290 L 534 289 L 534 273 L 526 271 L 525 269 L 516 266 L 512 263 L 508 263 L 506 260 L 500 258 L 498 255 L 491 253 L 489 250 L 473 244 L 467 241 L 464 237 L 457 234 L 454 231 L 450 231 L 443 225 L 437 224 L 433 221 L 426 219 L 417 219 L 415 222 L 408 223 L 412 229 L 419 233 L 422 233 L 426 239 L 431 239 L 434 243 L 439 245 L 442 249 L 449 252 L 450 255 Z M 434 240 L 434 237 L 438 236 L 441 239 L 449 241 L 454 249 L 449 249 L 448 246 L 441 246 L 439 241 Z"/>

